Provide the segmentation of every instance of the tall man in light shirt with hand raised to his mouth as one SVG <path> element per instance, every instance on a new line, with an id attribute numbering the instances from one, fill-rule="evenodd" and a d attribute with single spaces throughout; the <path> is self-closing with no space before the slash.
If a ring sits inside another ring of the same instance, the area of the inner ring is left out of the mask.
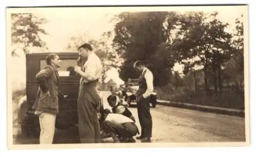
<path id="1" fill-rule="evenodd" d="M 81 60 L 86 60 L 82 69 L 79 66 L 75 67 L 75 71 L 81 75 L 77 100 L 80 142 L 100 143 L 100 126 L 97 118 L 100 95 L 96 85 L 102 72 L 102 65 L 90 44 L 82 44 L 78 50 Z"/>

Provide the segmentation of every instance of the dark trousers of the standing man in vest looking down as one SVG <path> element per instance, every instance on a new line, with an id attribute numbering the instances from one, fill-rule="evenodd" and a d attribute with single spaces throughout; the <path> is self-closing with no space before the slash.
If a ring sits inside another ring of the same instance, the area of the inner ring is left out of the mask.
<path id="1" fill-rule="evenodd" d="M 150 114 L 150 97 L 141 98 L 137 102 L 139 122 L 141 126 L 141 137 L 152 137 L 152 117 Z"/>

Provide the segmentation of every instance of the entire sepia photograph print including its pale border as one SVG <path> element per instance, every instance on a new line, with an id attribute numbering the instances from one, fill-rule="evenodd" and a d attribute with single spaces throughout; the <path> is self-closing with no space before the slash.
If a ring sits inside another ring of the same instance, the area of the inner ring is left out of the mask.
<path id="1" fill-rule="evenodd" d="M 249 146 L 248 6 L 6 8 L 8 149 Z"/>

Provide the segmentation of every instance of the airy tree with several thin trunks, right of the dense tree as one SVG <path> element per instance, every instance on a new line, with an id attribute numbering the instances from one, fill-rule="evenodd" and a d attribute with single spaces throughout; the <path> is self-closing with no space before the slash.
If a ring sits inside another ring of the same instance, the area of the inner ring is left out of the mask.
<path id="1" fill-rule="evenodd" d="M 217 70 L 219 88 L 221 91 L 221 66 L 231 54 L 231 34 L 225 32 L 228 23 L 222 23 L 216 18 L 217 12 L 210 15 L 202 12 L 189 12 L 182 18 L 182 27 L 177 32 L 176 41 L 181 43 L 175 46 L 181 54 L 180 63 L 186 69 L 202 66 L 205 77 L 205 91 L 208 89 L 208 76 L 214 77 L 217 91 Z"/>

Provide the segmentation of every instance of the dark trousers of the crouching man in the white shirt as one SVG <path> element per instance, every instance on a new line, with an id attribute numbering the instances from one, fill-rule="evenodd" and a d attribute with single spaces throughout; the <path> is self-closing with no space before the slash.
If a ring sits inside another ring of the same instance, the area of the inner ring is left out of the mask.
<path id="1" fill-rule="evenodd" d="M 104 121 L 101 126 L 105 133 L 114 133 L 115 135 L 124 138 L 133 137 L 138 133 L 138 127 L 135 123 L 118 124 L 111 121 Z"/>

